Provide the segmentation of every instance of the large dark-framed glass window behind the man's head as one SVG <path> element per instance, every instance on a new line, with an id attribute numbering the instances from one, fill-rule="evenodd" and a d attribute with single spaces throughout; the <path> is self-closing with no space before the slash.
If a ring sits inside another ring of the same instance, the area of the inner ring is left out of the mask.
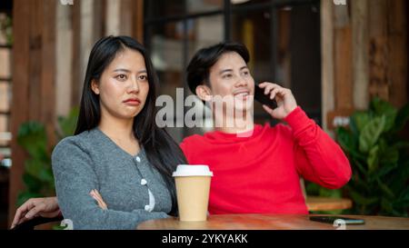
<path id="1" fill-rule="evenodd" d="M 176 99 L 175 88 L 184 87 L 185 97 L 190 95 L 185 67 L 195 52 L 221 41 L 238 41 L 250 52 L 249 67 L 255 82 L 270 81 L 291 88 L 297 103 L 319 124 L 319 4 L 318 0 L 145 1 L 145 45 L 150 47 L 159 73 L 160 94 Z M 195 104 L 201 105 L 200 100 Z M 185 107 L 185 113 L 189 109 Z M 258 103 L 254 104 L 254 121 L 276 123 Z M 207 131 L 208 128 L 169 128 L 176 141 Z"/>

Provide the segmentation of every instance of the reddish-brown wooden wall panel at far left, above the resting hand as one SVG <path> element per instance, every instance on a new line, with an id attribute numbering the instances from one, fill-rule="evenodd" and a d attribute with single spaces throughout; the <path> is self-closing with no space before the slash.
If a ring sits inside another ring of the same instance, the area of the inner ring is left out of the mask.
<path id="1" fill-rule="evenodd" d="M 49 147 L 55 135 L 55 12 L 54 0 L 16 0 L 13 46 L 12 167 L 9 222 L 17 195 L 24 189 L 25 151 L 17 144 L 18 128 L 26 121 L 45 123 Z"/>

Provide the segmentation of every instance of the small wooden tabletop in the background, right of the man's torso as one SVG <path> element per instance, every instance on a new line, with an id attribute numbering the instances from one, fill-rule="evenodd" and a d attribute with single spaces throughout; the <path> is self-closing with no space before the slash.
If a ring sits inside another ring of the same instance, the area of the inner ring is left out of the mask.
<path id="1" fill-rule="evenodd" d="M 329 198 L 308 196 L 305 200 L 308 211 L 331 211 L 349 209 L 352 207 L 352 201 L 345 198 Z"/>

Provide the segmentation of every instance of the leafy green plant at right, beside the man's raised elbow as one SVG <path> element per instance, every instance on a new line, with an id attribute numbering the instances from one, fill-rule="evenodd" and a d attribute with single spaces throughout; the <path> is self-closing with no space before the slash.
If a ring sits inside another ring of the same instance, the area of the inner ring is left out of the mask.
<path id="1" fill-rule="evenodd" d="M 408 216 L 409 142 L 400 135 L 408 118 L 409 104 L 398 110 L 374 98 L 350 117 L 348 128 L 336 129 L 353 168 L 345 186 L 354 202 L 349 213 Z"/>

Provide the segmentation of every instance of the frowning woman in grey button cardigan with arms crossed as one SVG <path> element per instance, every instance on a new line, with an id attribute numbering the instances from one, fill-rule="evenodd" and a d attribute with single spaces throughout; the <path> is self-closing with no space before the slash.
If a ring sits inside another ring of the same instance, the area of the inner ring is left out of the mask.
<path id="1" fill-rule="evenodd" d="M 75 135 L 52 155 L 58 204 L 74 229 L 135 229 L 175 215 L 172 173 L 185 156 L 155 125 L 155 81 L 134 39 L 109 36 L 95 44 Z"/>

